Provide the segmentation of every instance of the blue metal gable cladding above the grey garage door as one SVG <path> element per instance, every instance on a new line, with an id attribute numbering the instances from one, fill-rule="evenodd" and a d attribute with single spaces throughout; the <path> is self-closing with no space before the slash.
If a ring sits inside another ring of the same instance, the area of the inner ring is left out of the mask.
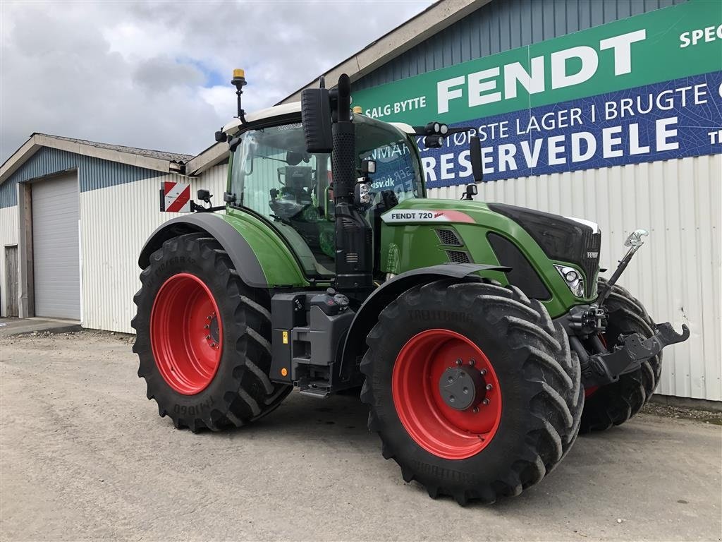
<path id="1" fill-rule="evenodd" d="M 0 185 L 0 208 L 17 205 L 17 183 L 69 169 L 78 170 L 80 192 L 166 174 L 161 171 L 139 168 L 135 165 L 110 162 L 101 158 L 79 155 L 75 152 L 43 147 Z"/>

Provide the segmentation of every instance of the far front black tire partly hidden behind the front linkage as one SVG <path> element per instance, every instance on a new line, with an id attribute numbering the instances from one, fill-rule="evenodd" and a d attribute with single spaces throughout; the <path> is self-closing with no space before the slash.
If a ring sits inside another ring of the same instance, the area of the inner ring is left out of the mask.
<path id="1" fill-rule="evenodd" d="M 598 285 L 606 287 L 606 280 Z M 625 288 L 612 286 L 604 304 L 609 309 L 609 323 L 604 340 L 612 348 L 619 335 L 640 333 L 645 338 L 654 335 L 654 321 L 643 304 Z M 659 383 L 662 371 L 662 353 L 645 359 L 637 371 L 622 374 L 617 382 L 595 390 L 586 398 L 580 432 L 604 431 L 618 426 L 635 416 L 649 401 Z"/>

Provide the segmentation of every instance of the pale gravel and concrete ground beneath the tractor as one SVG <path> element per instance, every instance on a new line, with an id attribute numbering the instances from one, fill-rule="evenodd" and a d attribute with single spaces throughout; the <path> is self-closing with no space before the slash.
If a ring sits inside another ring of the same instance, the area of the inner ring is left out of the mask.
<path id="1" fill-rule="evenodd" d="M 404 483 L 355 397 L 176 431 L 133 337 L 0 339 L 0 539 L 722 540 L 722 414 L 649 405 L 491 507 Z"/>

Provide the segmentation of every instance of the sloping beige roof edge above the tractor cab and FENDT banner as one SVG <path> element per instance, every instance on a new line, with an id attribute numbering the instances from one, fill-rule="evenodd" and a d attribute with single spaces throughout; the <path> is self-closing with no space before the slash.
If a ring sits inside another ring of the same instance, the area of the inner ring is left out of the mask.
<path id="1" fill-rule="evenodd" d="M 373 72 L 391 59 L 396 58 L 401 53 L 405 53 L 410 48 L 417 46 L 422 41 L 427 40 L 432 35 L 438 34 L 446 27 L 453 25 L 458 20 L 463 19 L 471 12 L 475 12 L 484 4 L 489 4 L 491 0 L 440 0 L 435 4 L 412 17 L 404 24 L 391 30 L 391 32 L 381 36 L 378 40 L 370 43 L 361 51 L 349 56 L 348 59 L 336 64 L 328 72 L 323 74 L 326 78 L 326 85 L 332 87 L 336 85 L 336 81 L 341 74 L 347 74 L 352 82 Z M 308 82 L 284 98 L 280 103 L 295 102 L 301 99 L 301 91 L 305 88 L 318 86 L 318 77 Z"/>

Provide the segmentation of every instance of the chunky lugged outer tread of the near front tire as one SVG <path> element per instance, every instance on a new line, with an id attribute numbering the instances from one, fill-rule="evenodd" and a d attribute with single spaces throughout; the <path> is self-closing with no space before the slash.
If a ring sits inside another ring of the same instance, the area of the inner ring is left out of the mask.
<path id="1" fill-rule="evenodd" d="M 534 418 L 535 429 L 526 434 L 526 446 L 508 472 L 498 473 L 490 483 L 463 489 L 447 487 L 442 481 L 422 483 L 432 498 L 449 495 L 462 505 L 470 499 L 490 504 L 500 496 L 517 495 L 554 469 L 570 449 L 579 429 L 583 388 L 578 360 L 570 351 L 566 332 L 560 324 L 552 323 L 541 303 L 529 300 L 518 288 L 488 283 L 440 280 L 406 291 L 383 309 L 378 324 L 367 337 L 369 348 L 360 364 L 360 370 L 366 376 L 361 400 L 370 407 L 368 427 L 379 434 L 383 456 L 399 464 L 404 479 L 411 467 L 384 438 L 383 424 L 375 413 L 370 380 L 373 378 L 375 346 L 383 340 L 387 324 L 399 318 L 400 306 L 414 306 L 424 296 L 443 299 L 445 304 L 463 309 L 487 311 L 483 314 L 487 314 L 489 322 L 498 322 L 505 327 L 509 348 L 526 357 L 523 366 L 530 366 L 531 374 L 521 371 L 525 374 L 520 373 L 519 377 L 525 380 L 524 385 L 535 387 L 536 392 L 529 402 L 529 415 Z M 418 476 L 416 479 L 421 481 Z"/>

